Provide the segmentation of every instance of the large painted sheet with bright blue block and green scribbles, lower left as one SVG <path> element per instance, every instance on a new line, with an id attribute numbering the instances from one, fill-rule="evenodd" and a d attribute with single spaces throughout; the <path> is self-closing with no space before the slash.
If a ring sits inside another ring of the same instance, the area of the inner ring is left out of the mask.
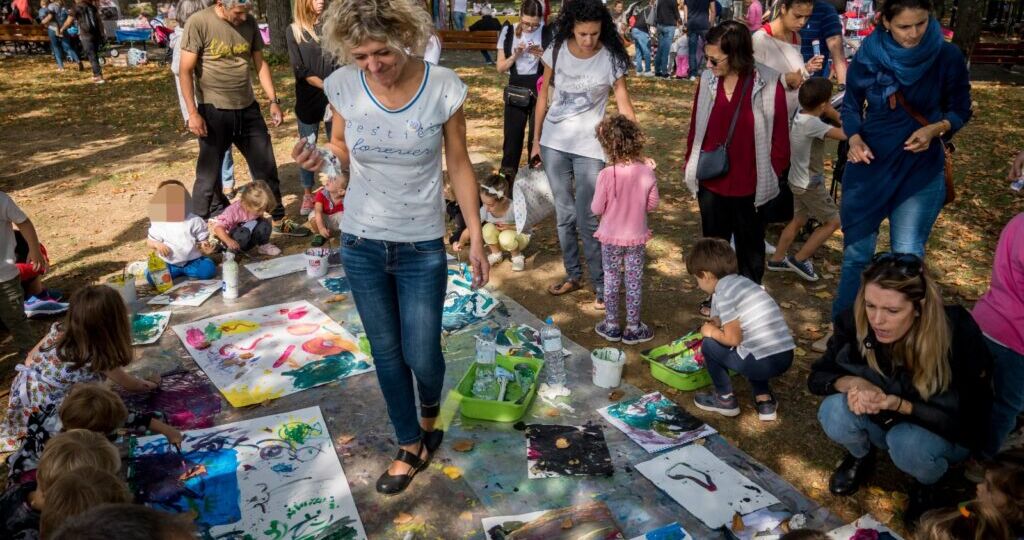
<path id="1" fill-rule="evenodd" d="M 203 538 L 367 537 L 319 408 L 185 431 L 131 449 L 137 500 L 190 512 Z"/>

